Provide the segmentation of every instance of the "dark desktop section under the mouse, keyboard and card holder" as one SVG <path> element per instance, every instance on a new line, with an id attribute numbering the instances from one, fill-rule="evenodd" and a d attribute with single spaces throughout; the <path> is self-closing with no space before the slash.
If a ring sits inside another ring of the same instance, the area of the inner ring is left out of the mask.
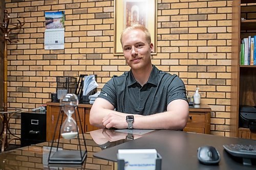
<path id="1" fill-rule="evenodd" d="M 197 134 L 180 131 L 160 130 L 146 134 L 139 139 L 119 144 L 115 147 L 95 153 L 94 156 L 117 161 L 118 149 L 156 149 L 162 156 L 162 170 L 169 169 L 256 169 L 245 166 L 242 159 L 231 157 L 222 145 L 243 143 L 256 145 L 256 140 Z M 197 149 L 202 145 L 212 145 L 221 155 L 219 165 L 203 165 L 198 162 Z"/>

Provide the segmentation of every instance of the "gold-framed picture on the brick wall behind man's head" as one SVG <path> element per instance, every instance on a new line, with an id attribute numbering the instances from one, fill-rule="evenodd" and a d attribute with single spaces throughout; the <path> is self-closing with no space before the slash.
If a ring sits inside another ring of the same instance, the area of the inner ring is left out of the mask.
<path id="1" fill-rule="evenodd" d="M 157 0 L 115 0 L 114 55 L 123 55 L 120 36 L 134 24 L 144 25 L 157 52 Z"/>

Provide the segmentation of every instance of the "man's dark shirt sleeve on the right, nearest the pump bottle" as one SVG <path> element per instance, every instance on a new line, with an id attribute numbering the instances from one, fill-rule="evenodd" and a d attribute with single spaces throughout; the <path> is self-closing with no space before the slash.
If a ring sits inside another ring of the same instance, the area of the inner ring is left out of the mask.
<path id="1" fill-rule="evenodd" d="M 176 99 L 182 99 L 187 101 L 186 88 L 183 81 L 177 75 L 173 75 L 173 76 L 174 76 L 174 79 L 169 84 L 168 90 L 167 90 L 168 91 L 167 105 Z"/>

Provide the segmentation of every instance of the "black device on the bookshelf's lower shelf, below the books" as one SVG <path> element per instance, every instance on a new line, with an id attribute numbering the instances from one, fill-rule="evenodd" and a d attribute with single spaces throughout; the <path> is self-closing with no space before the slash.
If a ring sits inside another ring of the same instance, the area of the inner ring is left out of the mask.
<path id="1" fill-rule="evenodd" d="M 241 106 L 239 109 L 239 127 L 256 131 L 256 106 Z"/>

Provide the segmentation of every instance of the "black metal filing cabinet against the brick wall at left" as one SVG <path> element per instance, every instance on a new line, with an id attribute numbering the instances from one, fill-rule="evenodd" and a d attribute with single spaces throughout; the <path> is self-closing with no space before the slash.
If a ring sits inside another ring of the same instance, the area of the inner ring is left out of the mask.
<path id="1" fill-rule="evenodd" d="M 25 147 L 44 141 L 46 141 L 46 112 L 23 112 L 20 146 Z"/>

